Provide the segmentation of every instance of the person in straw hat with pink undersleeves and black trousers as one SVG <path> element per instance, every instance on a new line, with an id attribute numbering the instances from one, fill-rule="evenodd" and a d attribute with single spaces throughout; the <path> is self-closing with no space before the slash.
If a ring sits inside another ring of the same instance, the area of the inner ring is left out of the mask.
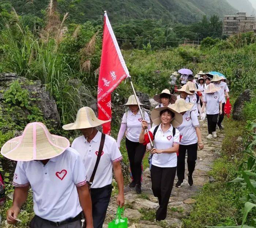
<path id="1" fill-rule="evenodd" d="M 139 98 L 137 97 L 139 105 Z M 142 160 L 146 153 L 146 145 L 139 143 L 139 136 L 142 130 L 141 122 L 142 116 L 139 112 L 139 106 L 136 102 L 135 95 L 131 95 L 124 106 L 128 106 L 129 110 L 123 115 L 120 130 L 117 136 L 117 146 L 120 148 L 120 143 L 125 133 L 125 145 L 128 153 L 132 182 L 129 184 L 130 188 L 135 187 L 137 193 L 141 193 L 142 184 Z M 146 111 L 142 111 L 144 119 L 148 123 L 148 130 L 150 126 L 150 118 Z"/>

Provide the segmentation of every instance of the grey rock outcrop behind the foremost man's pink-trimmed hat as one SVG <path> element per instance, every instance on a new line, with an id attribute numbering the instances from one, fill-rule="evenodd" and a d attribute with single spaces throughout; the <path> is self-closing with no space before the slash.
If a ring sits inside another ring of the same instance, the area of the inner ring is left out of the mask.
<path id="1" fill-rule="evenodd" d="M 29 91 L 30 98 L 33 98 L 34 101 L 31 101 L 31 105 L 36 105 L 44 114 L 46 120 L 53 120 L 53 125 L 59 125 L 59 113 L 57 110 L 56 102 L 48 91 L 46 91 L 45 86 L 42 86 L 40 80 L 29 81 L 24 77 L 20 77 L 14 73 L 1 73 L 0 74 L 0 90 L 3 93 L 9 89 L 9 84 L 18 80 L 22 89 Z M 3 93 L 0 93 L 0 101 L 3 100 Z M 23 115 L 28 115 L 29 110 L 24 109 Z M 54 127 L 53 126 L 53 127 Z"/>

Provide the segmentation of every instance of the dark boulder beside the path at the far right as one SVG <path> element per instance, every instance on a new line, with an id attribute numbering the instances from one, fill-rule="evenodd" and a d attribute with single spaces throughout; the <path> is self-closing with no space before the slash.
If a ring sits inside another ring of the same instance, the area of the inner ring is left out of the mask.
<path id="1" fill-rule="evenodd" d="M 243 93 L 239 95 L 239 97 L 236 99 L 236 102 L 234 103 L 233 107 L 233 119 L 236 120 L 242 120 L 244 119 L 243 117 L 243 108 L 244 108 L 244 103 L 245 101 L 251 101 L 252 99 L 252 91 L 247 89 Z"/>

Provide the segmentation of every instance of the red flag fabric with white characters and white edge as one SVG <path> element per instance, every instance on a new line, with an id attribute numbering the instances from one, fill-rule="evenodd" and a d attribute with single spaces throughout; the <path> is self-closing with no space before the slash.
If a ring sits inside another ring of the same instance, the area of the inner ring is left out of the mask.
<path id="1" fill-rule="evenodd" d="M 98 118 L 112 118 L 111 93 L 129 76 L 124 58 L 117 44 L 107 13 L 104 16 L 101 65 L 98 81 Z M 103 133 L 110 134 L 110 122 L 103 124 Z"/>

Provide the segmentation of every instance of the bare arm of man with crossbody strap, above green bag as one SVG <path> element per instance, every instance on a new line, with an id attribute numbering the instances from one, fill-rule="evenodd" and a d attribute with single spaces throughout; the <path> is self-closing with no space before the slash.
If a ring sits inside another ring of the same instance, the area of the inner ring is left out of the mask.
<path id="1" fill-rule="evenodd" d="M 117 205 L 122 208 L 124 206 L 124 178 L 120 161 L 113 162 L 113 170 L 119 190 L 119 194 L 117 196 Z"/>

